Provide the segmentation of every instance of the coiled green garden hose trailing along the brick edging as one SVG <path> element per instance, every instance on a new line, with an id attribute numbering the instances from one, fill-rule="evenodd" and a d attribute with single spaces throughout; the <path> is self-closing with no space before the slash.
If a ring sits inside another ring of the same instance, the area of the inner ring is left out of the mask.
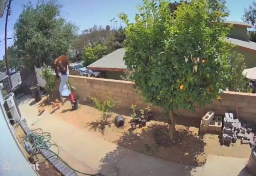
<path id="1" fill-rule="evenodd" d="M 35 129 L 33 131 L 36 130 L 41 130 L 42 129 Z M 52 152 L 52 156 L 45 158 L 44 160 L 48 160 L 49 158 L 56 156 L 61 162 L 63 162 L 68 168 L 70 168 L 72 171 L 74 172 L 78 172 L 80 174 L 84 174 L 84 175 L 88 175 L 88 176 L 97 176 L 94 174 L 87 174 L 84 172 L 80 172 L 74 168 L 72 168 L 67 162 L 65 162 L 64 160 L 62 160 L 62 158 L 60 158 L 59 156 L 59 147 L 56 144 L 52 144 L 50 142 L 51 140 L 51 134 L 49 132 L 32 132 L 31 134 L 28 134 L 27 136 L 25 136 L 23 139 L 23 141 L 29 142 L 33 148 L 36 148 L 38 151 L 40 151 L 39 149 L 45 149 L 45 150 L 49 150 L 50 152 Z M 56 146 L 58 148 L 58 152 L 55 153 L 52 150 L 50 150 L 51 146 Z"/>

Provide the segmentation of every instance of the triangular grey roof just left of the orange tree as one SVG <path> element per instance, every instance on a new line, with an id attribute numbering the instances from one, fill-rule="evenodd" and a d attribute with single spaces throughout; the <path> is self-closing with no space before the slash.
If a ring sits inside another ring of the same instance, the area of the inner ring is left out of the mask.
<path id="1" fill-rule="evenodd" d="M 125 50 L 123 48 L 117 49 L 88 65 L 86 68 L 101 71 L 125 71 L 126 65 L 123 60 L 124 53 Z"/>

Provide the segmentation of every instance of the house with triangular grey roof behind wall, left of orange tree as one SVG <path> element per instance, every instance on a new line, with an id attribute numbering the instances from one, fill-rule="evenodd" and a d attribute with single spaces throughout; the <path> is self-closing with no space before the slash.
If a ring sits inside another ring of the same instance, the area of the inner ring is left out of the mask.
<path id="1" fill-rule="evenodd" d="M 101 59 L 88 65 L 86 68 L 92 71 L 102 71 L 105 73 L 106 79 L 118 79 L 121 80 L 121 75 L 124 75 L 126 65 L 124 63 L 124 49 L 120 48 L 112 53 L 105 55 Z"/>

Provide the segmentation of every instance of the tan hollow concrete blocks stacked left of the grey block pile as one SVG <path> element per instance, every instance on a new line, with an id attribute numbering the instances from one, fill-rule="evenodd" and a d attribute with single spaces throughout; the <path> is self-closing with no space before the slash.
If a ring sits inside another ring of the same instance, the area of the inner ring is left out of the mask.
<path id="1" fill-rule="evenodd" d="M 214 116 L 213 111 L 208 111 L 202 118 L 200 131 L 220 132 L 222 129 L 222 117 Z"/>

